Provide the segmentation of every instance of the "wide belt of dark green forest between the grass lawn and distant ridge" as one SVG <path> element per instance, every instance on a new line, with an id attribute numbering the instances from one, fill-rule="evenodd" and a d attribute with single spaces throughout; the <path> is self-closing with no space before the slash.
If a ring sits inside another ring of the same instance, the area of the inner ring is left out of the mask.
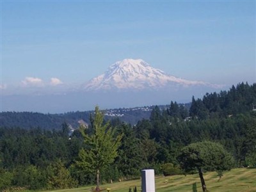
<path id="1" fill-rule="evenodd" d="M 156 174 L 183 174 L 182 168 L 188 165 L 180 163 L 184 159 L 180 152 L 189 151 L 191 143 L 209 141 L 218 143 L 231 154 L 234 163 L 228 165 L 230 168 L 256 166 L 254 107 L 256 83 L 240 83 L 228 91 L 206 93 L 202 99 L 193 97 L 189 109 L 173 101 L 166 110 L 156 106 L 149 120 L 140 120 L 136 125 L 125 124 L 118 118 L 111 122 L 98 120 L 97 126 L 104 127 L 102 135 L 108 133 L 108 140 L 114 138 L 119 142 L 116 146 L 108 144 L 108 148 L 117 147 L 116 154 L 103 153 L 104 159 L 113 158 L 104 166 L 101 164 L 99 181 L 137 179 L 143 168 L 154 168 Z M 86 160 L 94 145 L 93 114 L 91 122 L 88 127 L 76 129 L 71 136 L 65 123 L 60 131 L 0 127 L 0 190 L 61 189 L 95 184 L 97 175 L 90 164 L 97 166 L 97 157 L 90 158 L 89 166 Z M 86 139 L 88 137 L 90 139 Z M 103 142 L 97 146 L 105 145 Z M 207 156 L 207 151 L 205 153 Z M 185 171 L 188 174 L 196 170 L 189 167 Z"/>

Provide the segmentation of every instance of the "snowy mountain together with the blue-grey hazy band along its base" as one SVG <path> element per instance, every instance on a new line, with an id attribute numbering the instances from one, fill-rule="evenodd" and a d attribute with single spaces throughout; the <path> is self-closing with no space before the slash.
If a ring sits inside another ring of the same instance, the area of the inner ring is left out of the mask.
<path id="1" fill-rule="evenodd" d="M 96 105 L 109 109 L 170 104 L 172 100 L 185 103 L 190 102 L 192 96 L 202 97 L 206 92 L 223 88 L 168 75 L 141 59 L 117 61 L 104 74 L 80 87 L 49 94 L 39 86 L 36 93 L 6 95 L 2 98 L 2 109 L 64 113 L 92 110 Z"/>

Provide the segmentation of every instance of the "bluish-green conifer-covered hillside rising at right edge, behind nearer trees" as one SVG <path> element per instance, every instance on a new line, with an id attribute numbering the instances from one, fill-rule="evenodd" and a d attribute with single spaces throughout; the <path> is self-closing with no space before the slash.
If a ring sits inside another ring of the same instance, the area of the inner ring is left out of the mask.
<path id="1" fill-rule="evenodd" d="M 218 118 L 246 113 L 256 109 L 256 84 L 234 85 L 220 93 L 206 93 L 203 99 L 192 98 L 190 115 L 200 119 Z M 255 107 L 255 108 L 254 108 Z"/>

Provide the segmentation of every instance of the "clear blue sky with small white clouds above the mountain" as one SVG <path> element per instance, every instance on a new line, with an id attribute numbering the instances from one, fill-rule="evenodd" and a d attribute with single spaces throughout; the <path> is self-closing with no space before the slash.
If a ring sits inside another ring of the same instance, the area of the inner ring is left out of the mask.
<path id="1" fill-rule="evenodd" d="M 255 1 L 1 1 L 1 93 L 78 87 L 115 61 L 256 80 Z"/>

